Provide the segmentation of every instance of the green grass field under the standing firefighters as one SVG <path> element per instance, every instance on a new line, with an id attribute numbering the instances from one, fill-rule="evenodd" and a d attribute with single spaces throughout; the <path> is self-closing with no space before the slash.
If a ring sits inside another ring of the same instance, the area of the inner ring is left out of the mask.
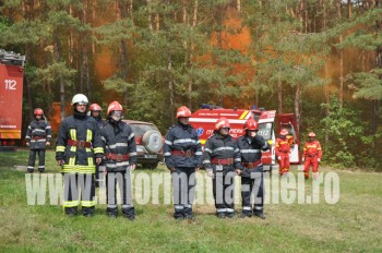
<path id="1" fill-rule="evenodd" d="M 93 218 L 68 218 L 61 206 L 27 205 L 25 172 L 14 167 L 25 166 L 27 156 L 0 154 L 0 252 L 382 252 L 381 173 L 335 170 L 336 204 L 266 204 L 266 220 L 217 219 L 213 206 L 198 205 L 194 221 L 176 221 L 171 205 L 135 204 L 132 222 L 108 218 L 106 205 L 97 205 Z M 47 153 L 47 172 L 59 172 L 53 157 Z M 309 180 L 307 193 L 311 188 Z"/>

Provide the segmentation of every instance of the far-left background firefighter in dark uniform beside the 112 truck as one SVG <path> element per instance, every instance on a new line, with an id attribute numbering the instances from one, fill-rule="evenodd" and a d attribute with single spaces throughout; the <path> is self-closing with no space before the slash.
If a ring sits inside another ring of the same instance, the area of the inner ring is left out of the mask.
<path id="1" fill-rule="evenodd" d="M 45 150 L 50 145 L 51 128 L 48 121 L 44 118 L 44 111 L 40 108 L 36 108 L 33 111 L 35 120 L 31 122 L 26 130 L 26 146 L 29 147 L 29 160 L 27 172 L 33 173 L 35 171 L 36 154 L 38 154 L 38 171 L 45 171 Z"/>

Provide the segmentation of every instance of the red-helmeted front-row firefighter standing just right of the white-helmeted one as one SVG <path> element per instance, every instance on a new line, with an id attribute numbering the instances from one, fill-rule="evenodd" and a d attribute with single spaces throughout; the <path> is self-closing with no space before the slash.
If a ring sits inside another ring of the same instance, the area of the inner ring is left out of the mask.
<path id="1" fill-rule="evenodd" d="M 135 137 L 129 124 L 122 121 L 122 106 L 112 101 L 107 108 L 108 122 L 102 128 L 100 134 L 105 148 L 106 194 L 109 217 L 116 218 L 117 182 L 121 193 L 123 217 L 133 220 L 135 212 L 132 200 L 131 170 L 136 166 Z"/>

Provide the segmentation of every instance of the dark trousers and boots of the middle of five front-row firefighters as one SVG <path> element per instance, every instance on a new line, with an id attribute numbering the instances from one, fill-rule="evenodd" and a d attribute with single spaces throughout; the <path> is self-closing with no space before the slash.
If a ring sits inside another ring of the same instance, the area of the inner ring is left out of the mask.
<path id="1" fill-rule="evenodd" d="M 176 168 L 171 173 L 174 217 L 189 218 L 192 216 L 192 204 L 195 195 L 195 168 Z"/>

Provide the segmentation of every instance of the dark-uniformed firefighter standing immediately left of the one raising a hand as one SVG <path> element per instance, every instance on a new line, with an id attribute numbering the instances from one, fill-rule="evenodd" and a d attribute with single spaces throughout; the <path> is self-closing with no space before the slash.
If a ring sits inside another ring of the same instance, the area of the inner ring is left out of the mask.
<path id="1" fill-rule="evenodd" d="M 229 122 L 222 117 L 216 121 L 214 134 L 206 141 L 203 164 L 213 178 L 216 216 L 235 217 L 235 176 L 241 173 L 241 158 L 235 140 L 229 135 Z"/>

